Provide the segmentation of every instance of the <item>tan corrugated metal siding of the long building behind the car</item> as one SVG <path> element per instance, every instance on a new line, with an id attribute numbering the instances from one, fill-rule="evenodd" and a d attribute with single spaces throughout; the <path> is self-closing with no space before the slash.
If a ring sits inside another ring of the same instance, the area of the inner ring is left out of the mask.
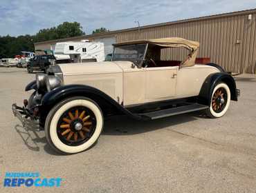
<path id="1" fill-rule="evenodd" d="M 199 57 L 210 57 L 229 72 L 255 73 L 256 14 L 221 17 L 117 34 L 117 42 L 161 37 L 183 37 L 201 43 Z M 237 42 L 238 41 L 238 42 Z M 240 43 L 239 43 L 240 42 Z M 165 50 L 162 59 L 183 59 L 185 50 Z"/>

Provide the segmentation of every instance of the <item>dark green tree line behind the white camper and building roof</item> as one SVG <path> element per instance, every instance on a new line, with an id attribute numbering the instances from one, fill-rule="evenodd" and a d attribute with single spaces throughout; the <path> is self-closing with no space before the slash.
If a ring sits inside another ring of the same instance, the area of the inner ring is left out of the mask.
<path id="1" fill-rule="evenodd" d="M 93 30 L 93 33 L 108 32 L 106 28 Z M 21 35 L 18 37 L 0 36 L 0 59 L 13 58 L 21 54 L 21 51 L 35 51 L 34 43 L 67 37 L 77 37 L 84 35 L 80 23 L 64 22 L 57 27 L 39 30 L 35 35 Z"/>

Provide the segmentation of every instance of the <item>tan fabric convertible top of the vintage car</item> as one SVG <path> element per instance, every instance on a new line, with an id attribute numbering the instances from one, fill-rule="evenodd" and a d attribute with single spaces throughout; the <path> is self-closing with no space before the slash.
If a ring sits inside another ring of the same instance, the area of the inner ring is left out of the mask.
<path id="1" fill-rule="evenodd" d="M 194 65 L 196 61 L 198 49 L 199 49 L 199 42 L 190 41 L 188 39 L 183 39 L 181 37 L 169 37 L 169 38 L 161 38 L 161 39 L 141 39 L 141 40 L 135 40 L 135 41 L 115 43 L 113 45 L 114 46 L 131 45 L 131 44 L 138 44 L 138 43 L 150 43 L 153 45 L 158 45 L 163 48 L 187 48 L 191 52 L 190 54 L 188 54 L 188 58 L 181 63 L 182 67 L 189 67 Z"/>

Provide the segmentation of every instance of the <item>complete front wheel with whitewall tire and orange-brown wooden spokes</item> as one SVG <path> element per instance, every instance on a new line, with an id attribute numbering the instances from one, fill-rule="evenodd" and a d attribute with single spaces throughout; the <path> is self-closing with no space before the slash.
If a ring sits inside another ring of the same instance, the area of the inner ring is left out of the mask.
<path id="1" fill-rule="evenodd" d="M 66 99 L 49 112 L 45 125 L 46 139 L 56 152 L 82 152 L 98 140 L 103 122 L 100 107 L 91 99 Z"/>

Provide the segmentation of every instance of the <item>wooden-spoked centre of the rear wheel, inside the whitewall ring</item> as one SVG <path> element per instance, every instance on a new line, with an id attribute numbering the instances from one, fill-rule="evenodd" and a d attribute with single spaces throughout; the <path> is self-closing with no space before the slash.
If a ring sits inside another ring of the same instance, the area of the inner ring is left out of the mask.
<path id="1" fill-rule="evenodd" d="M 226 107 L 228 94 L 224 88 L 217 89 L 212 96 L 212 109 L 214 112 L 221 112 Z"/>

